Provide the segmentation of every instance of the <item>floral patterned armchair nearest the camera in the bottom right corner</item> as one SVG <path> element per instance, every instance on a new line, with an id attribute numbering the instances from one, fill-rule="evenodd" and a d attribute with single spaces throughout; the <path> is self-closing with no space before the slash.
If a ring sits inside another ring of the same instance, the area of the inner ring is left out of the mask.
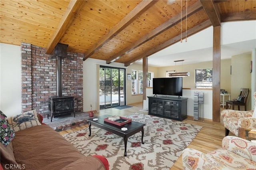
<path id="1" fill-rule="evenodd" d="M 256 143 L 226 136 L 222 148 L 204 154 L 192 148 L 182 153 L 184 170 L 256 170 Z"/>

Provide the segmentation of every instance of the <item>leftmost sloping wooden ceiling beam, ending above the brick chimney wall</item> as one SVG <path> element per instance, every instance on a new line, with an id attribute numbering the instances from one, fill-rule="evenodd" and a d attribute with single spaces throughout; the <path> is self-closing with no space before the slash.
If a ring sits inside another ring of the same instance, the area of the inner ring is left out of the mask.
<path id="1" fill-rule="evenodd" d="M 78 14 L 79 10 L 81 9 L 84 0 L 71 0 L 68 4 L 68 7 L 63 14 L 62 18 L 60 19 L 60 22 L 54 31 L 54 34 L 52 35 L 50 41 L 46 45 L 45 53 L 50 54 L 52 53 L 54 47 L 57 45 L 57 43 L 62 38 L 65 31 L 68 29 L 71 22 L 74 20 L 76 14 Z"/>

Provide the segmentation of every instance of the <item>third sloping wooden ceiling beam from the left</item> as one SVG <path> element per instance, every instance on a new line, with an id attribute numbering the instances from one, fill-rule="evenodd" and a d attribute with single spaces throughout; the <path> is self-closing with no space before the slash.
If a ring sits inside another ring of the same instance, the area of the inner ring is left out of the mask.
<path id="1" fill-rule="evenodd" d="M 201 9 L 202 9 L 202 5 L 198 1 L 198 2 L 194 3 L 193 5 L 191 5 L 190 7 L 188 7 L 187 16 L 189 17 Z M 182 19 L 184 19 L 184 18 L 186 18 L 186 9 L 182 11 Z M 133 49 L 135 49 L 135 48 L 139 47 L 140 45 L 142 45 L 143 43 L 147 42 L 148 40 L 158 36 L 162 32 L 164 32 L 164 31 L 168 30 L 169 28 L 171 28 L 172 26 L 176 25 L 178 22 L 180 22 L 180 13 L 175 15 L 174 17 L 172 17 L 170 20 L 164 22 L 164 24 L 158 26 L 157 28 L 155 28 L 154 30 L 149 32 L 148 34 L 144 35 L 142 38 L 140 38 L 136 42 L 130 44 L 129 46 L 125 47 L 124 49 L 122 49 L 121 51 L 119 51 L 118 53 L 116 53 L 115 55 L 110 57 L 109 59 L 107 59 L 106 63 L 109 64 L 111 62 L 116 61 L 117 59 L 119 59 L 120 57 L 125 55 L 126 53 L 132 51 Z"/>

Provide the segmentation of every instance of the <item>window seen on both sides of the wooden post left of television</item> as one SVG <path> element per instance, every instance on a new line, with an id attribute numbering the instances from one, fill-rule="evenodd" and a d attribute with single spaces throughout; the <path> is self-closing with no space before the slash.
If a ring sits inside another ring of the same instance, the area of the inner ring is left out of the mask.
<path id="1" fill-rule="evenodd" d="M 148 73 L 148 87 L 152 87 L 153 73 Z M 132 95 L 143 93 L 143 71 L 132 70 Z"/>

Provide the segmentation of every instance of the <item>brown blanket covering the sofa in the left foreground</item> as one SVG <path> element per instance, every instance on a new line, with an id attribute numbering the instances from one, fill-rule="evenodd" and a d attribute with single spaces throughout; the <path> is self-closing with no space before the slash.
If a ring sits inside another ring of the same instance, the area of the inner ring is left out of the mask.
<path id="1" fill-rule="evenodd" d="M 16 162 L 26 170 L 105 169 L 97 158 L 85 157 L 47 125 L 16 132 L 12 146 Z"/>

